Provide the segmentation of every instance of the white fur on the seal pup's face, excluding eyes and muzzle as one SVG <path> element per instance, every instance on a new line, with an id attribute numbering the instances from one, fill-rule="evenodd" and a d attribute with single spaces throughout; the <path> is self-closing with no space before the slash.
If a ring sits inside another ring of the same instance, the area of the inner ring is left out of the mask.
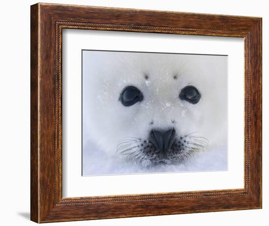
<path id="1" fill-rule="evenodd" d="M 152 172 L 131 166 L 116 153 L 116 147 L 126 137 L 145 139 L 152 128 L 168 127 L 174 127 L 178 136 L 196 132 L 208 140 L 208 146 L 184 166 L 163 166 L 162 172 L 226 169 L 226 62 L 226 56 L 83 51 L 83 165 L 87 174 Z M 126 107 L 119 95 L 129 85 L 137 87 L 144 99 Z M 197 104 L 179 99 L 187 85 L 201 93 Z M 107 164 L 105 172 L 98 170 L 102 161 Z"/>

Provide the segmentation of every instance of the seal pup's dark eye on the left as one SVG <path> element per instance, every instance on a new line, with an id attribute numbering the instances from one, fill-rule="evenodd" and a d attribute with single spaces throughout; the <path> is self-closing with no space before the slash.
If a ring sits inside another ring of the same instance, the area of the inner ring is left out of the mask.
<path id="1" fill-rule="evenodd" d="M 143 100 L 143 94 L 136 87 L 128 86 L 122 91 L 119 100 L 126 107 L 132 106 L 136 102 Z"/>

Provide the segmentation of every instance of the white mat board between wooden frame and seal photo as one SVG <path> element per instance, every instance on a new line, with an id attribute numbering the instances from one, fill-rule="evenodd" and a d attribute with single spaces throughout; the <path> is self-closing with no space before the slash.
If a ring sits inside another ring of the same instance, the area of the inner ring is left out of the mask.
<path id="1" fill-rule="evenodd" d="M 63 46 L 63 197 L 244 188 L 243 38 L 67 29 Z M 228 171 L 81 176 L 82 49 L 228 55 Z"/>

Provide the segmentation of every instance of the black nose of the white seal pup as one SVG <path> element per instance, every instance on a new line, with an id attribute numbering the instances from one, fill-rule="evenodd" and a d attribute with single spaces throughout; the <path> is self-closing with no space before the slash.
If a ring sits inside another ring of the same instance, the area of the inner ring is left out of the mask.
<path id="1" fill-rule="evenodd" d="M 156 146 L 156 148 L 164 152 L 168 151 L 172 143 L 171 140 L 175 136 L 175 129 L 170 128 L 165 131 L 153 129 L 151 132 L 153 143 Z"/>

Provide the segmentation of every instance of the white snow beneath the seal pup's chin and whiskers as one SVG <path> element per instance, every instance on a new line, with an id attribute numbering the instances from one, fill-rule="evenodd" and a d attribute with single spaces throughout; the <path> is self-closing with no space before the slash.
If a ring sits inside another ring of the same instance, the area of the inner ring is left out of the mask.
<path id="1" fill-rule="evenodd" d="M 107 155 L 88 141 L 83 150 L 83 176 L 224 171 L 227 170 L 227 162 L 224 159 L 227 159 L 226 147 L 219 147 L 218 150 L 207 150 L 197 154 L 187 164 L 141 168 L 126 161 L 119 153 L 115 152 L 112 157 Z"/>

